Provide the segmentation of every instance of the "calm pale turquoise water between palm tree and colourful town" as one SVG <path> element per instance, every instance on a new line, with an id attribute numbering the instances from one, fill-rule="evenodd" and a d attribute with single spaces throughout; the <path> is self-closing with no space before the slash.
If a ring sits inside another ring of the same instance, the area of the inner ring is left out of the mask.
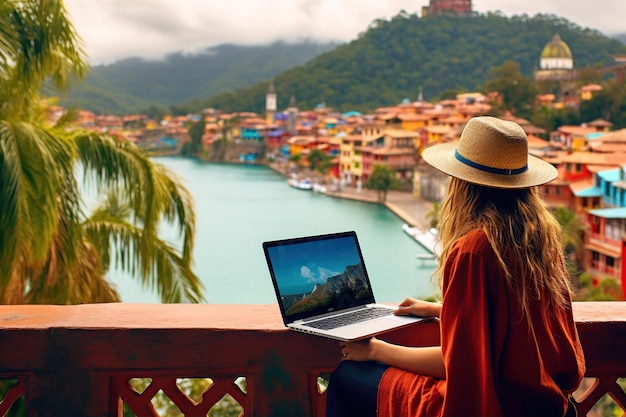
<path id="1" fill-rule="evenodd" d="M 433 292 L 433 266 L 415 259 L 426 252 L 383 206 L 296 190 L 266 167 L 156 160 L 177 173 L 194 196 L 194 271 L 209 303 L 274 303 L 262 242 L 346 230 L 357 233 L 377 301 Z M 109 278 L 124 302 L 160 302 L 130 276 L 112 273 Z"/>

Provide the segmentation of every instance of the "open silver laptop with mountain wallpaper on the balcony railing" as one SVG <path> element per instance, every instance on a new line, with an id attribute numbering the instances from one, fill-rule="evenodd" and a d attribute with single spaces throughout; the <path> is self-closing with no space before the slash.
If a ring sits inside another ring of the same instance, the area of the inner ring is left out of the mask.
<path id="1" fill-rule="evenodd" d="M 376 304 L 354 231 L 263 242 L 290 329 L 355 341 L 424 320 Z"/>

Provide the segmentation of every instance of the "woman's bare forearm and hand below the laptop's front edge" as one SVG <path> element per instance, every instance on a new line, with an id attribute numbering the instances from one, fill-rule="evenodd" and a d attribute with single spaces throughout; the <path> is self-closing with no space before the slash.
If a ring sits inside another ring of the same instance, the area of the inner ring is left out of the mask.
<path id="1" fill-rule="evenodd" d="M 343 360 L 378 361 L 421 375 L 446 377 L 441 346 L 399 346 L 375 337 L 359 342 L 341 342 L 340 346 Z"/>

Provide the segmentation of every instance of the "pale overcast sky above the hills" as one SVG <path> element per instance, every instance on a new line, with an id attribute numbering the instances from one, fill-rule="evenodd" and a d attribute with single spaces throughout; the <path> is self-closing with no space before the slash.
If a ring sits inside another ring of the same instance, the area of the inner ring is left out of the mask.
<path id="1" fill-rule="evenodd" d="M 555 14 L 607 35 L 626 33 L 625 0 L 473 0 L 475 11 L 506 16 Z M 375 19 L 428 0 L 65 0 L 91 64 L 158 59 L 222 43 L 277 40 L 347 42 Z M 549 39 L 547 40 L 549 41 Z"/>

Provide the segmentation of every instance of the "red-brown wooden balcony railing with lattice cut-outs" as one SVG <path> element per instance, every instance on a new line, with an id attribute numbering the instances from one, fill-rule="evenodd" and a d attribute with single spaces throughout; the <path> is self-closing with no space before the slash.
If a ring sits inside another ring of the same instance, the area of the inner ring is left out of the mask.
<path id="1" fill-rule="evenodd" d="M 626 304 L 575 303 L 590 386 L 579 415 L 606 394 L 626 410 Z M 438 323 L 385 336 L 415 346 L 439 342 Z M 23 402 L 29 417 L 158 416 L 168 397 L 185 416 L 206 416 L 229 394 L 245 416 L 322 416 L 318 377 L 339 362 L 332 340 L 286 330 L 275 305 L 91 304 L 0 306 L 0 416 Z M 244 388 L 237 383 L 245 378 Z M 145 378 L 138 392 L 132 382 Z M 191 399 L 185 379 L 210 378 Z"/>

